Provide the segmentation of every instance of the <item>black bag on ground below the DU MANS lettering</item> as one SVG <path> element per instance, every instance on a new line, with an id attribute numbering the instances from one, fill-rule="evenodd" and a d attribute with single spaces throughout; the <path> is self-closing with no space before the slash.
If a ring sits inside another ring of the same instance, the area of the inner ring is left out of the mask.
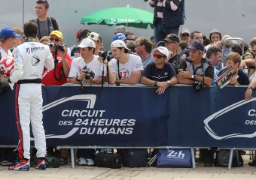
<path id="1" fill-rule="evenodd" d="M 112 169 L 121 168 L 121 157 L 117 153 L 98 152 L 95 157 L 95 165 Z"/>

